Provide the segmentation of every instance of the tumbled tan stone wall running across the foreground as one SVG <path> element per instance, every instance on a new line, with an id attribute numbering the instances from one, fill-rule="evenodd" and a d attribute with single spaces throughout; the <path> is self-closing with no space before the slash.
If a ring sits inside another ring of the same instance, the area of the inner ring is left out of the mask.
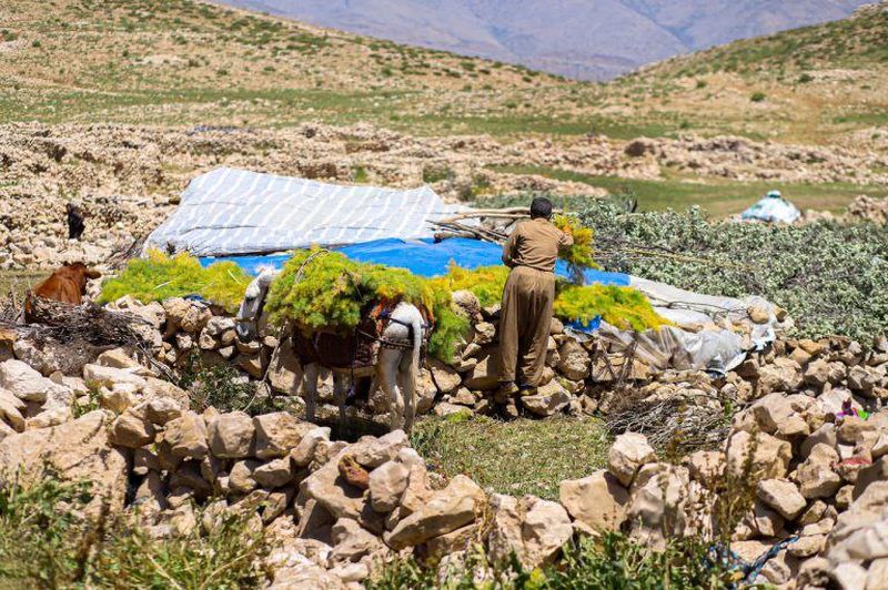
<path id="1" fill-rule="evenodd" d="M 571 539 L 602 530 L 624 530 L 652 549 L 679 536 L 714 538 L 725 526 L 719 498 L 745 494 L 748 512 L 729 531 L 737 553 L 751 561 L 798 537 L 768 561 L 765 580 L 884 588 L 888 413 L 858 415 L 861 400 L 874 407 L 881 385 L 840 369 L 867 367 L 884 353 L 838 339 L 815 344 L 784 343 L 788 356 L 747 362 L 753 401 L 720 449 L 675 465 L 658 459 L 644 435 L 626 433 L 606 469 L 561 484 L 559 502 L 490 494 L 462 476 L 444 481 L 402 431 L 349 444 L 290 413 L 198 414 L 184 391 L 121 349 L 77 377 L 0 364 L 8 425 L 0 472 L 88 478 L 95 492 L 88 510 L 104 502 L 161 538 L 249 518 L 274 547 L 269 566 L 281 588 L 356 588 L 405 552 L 440 561 L 444 572 L 477 546 L 493 560 L 514 551 L 536 567 Z"/>

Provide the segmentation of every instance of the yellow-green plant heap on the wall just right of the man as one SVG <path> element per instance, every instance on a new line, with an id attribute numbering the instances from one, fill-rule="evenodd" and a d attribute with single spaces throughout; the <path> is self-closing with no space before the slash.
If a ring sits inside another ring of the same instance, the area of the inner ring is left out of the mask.
<path id="1" fill-rule="evenodd" d="M 614 285 L 567 285 L 555 298 L 555 316 L 579 319 L 584 324 L 596 316 L 623 329 L 644 332 L 668 325 L 642 292 Z"/>

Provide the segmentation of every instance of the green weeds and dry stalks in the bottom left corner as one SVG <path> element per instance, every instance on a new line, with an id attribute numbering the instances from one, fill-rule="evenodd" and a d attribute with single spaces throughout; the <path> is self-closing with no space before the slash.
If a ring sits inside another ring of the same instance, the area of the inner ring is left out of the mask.
<path id="1" fill-rule="evenodd" d="M 125 516 L 82 519 L 89 488 L 51 475 L 0 487 L 0 586 L 221 590 L 264 582 L 259 566 L 268 546 L 244 518 L 221 519 L 206 535 L 198 526 L 185 537 L 153 539 Z"/>

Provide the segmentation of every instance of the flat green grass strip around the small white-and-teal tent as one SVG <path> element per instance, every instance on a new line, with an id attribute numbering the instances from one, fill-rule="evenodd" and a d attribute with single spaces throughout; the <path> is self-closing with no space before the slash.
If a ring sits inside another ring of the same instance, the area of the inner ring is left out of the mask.
<path id="1" fill-rule="evenodd" d="M 589 186 L 606 189 L 613 194 L 632 193 L 638 199 L 638 206 L 642 211 L 665 208 L 684 211 L 690 205 L 699 205 L 716 217 L 739 213 L 758 201 L 765 193 L 775 189 L 780 190 L 785 197 L 803 211 L 811 208 L 840 213 L 854 197 L 860 194 L 888 197 L 888 186 L 876 185 L 736 182 L 718 179 L 707 179 L 704 184 L 679 176 L 647 181 L 594 176 L 553 167 L 502 166 L 496 170 L 513 174 L 539 174 L 561 181 L 581 182 Z"/>

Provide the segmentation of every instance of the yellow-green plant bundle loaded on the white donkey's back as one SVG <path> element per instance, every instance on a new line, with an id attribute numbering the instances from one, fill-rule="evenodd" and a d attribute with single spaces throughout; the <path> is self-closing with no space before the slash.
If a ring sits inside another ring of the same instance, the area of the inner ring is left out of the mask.
<path id="1" fill-rule="evenodd" d="M 404 268 L 366 264 L 337 252 L 296 251 L 269 291 L 271 321 L 293 321 L 307 329 L 351 330 L 371 302 L 404 301 L 424 306 L 435 318 L 430 354 L 448 360 L 468 330 L 468 319 L 452 305 L 451 292 Z"/>

